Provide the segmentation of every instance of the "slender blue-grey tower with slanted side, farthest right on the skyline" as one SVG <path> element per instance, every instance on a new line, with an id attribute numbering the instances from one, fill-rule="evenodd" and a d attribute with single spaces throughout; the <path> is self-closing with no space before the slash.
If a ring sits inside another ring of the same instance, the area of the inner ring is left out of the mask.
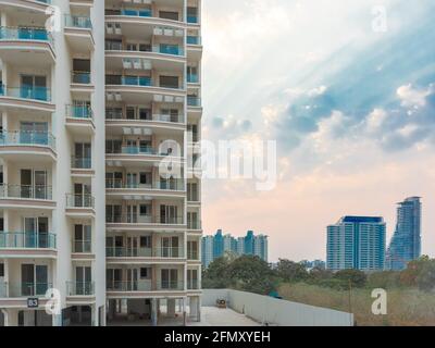
<path id="1" fill-rule="evenodd" d="M 398 203 L 397 223 L 387 251 L 386 268 L 400 271 L 421 257 L 421 202 L 410 197 Z"/>

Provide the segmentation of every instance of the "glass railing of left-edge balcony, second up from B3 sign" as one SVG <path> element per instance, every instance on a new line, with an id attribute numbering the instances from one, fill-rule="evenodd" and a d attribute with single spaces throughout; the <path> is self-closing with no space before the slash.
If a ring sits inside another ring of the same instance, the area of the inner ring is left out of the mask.
<path id="1" fill-rule="evenodd" d="M 0 232 L 0 249 L 55 249 L 55 235 L 36 232 Z"/>

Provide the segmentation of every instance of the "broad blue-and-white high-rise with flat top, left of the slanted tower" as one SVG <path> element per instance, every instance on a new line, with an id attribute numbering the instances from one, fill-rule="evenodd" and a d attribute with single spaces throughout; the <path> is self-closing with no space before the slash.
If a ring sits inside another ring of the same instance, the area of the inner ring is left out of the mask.
<path id="1" fill-rule="evenodd" d="M 327 269 L 383 270 L 385 231 L 384 219 L 371 216 L 344 216 L 327 226 Z"/>

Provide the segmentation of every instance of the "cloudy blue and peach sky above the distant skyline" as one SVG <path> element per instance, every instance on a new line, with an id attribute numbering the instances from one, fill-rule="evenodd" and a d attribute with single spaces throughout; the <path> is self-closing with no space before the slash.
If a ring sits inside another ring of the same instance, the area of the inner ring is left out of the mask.
<path id="1" fill-rule="evenodd" d="M 278 152 L 274 190 L 206 181 L 204 234 L 254 229 L 272 260 L 325 259 L 327 224 L 382 215 L 389 241 L 396 202 L 421 196 L 435 256 L 433 13 L 433 0 L 203 0 L 203 138 Z"/>

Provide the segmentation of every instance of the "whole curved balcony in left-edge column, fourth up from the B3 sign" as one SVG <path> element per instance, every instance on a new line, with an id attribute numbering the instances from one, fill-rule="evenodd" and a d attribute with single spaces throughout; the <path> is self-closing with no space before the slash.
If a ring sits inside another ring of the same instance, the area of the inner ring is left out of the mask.
<path id="1" fill-rule="evenodd" d="M 3 159 L 54 161 L 55 138 L 48 132 L 12 130 L 0 133 L 0 156 Z"/>

